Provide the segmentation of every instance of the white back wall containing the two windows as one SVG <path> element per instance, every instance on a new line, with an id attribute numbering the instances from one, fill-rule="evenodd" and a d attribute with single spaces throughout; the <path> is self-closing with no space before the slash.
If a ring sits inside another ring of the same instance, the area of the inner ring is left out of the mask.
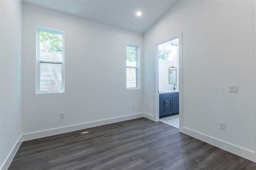
<path id="1" fill-rule="evenodd" d="M 64 93 L 36 94 L 37 25 L 65 31 Z M 143 61 L 142 34 L 23 5 L 22 35 L 22 133 L 25 136 L 102 120 L 121 121 L 130 119 L 129 115 L 143 113 L 143 89 L 126 90 L 126 43 L 140 45 Z M 143 63 L 141 68 L 143 75 Z M 141 83 L 143 87 L 143 79 Z M 60 119 L 61 112 L 64 119 Z M 83 127 L 86 126 L 78 128 Z M 44 135 L 54 133 L 59 132 Z"/>

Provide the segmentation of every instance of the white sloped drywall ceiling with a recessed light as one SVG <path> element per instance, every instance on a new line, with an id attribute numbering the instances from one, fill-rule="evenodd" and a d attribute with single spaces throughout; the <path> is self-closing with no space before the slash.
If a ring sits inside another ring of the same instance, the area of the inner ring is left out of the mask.
<path id="1" fill-rule="evenodd" d="M 23 4 L 144 33 L 178 0 L 22 0 Z M 142 12 L 141 16 L 136 13 Z"/>

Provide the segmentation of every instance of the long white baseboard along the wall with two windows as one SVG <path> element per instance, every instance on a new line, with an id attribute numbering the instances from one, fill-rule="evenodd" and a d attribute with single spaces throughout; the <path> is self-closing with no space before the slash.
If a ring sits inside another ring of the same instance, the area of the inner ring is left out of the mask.
<path id="1" fill-rule="evenodd" d="M 32 139 L 38 139 L 38 138 L 42 138 L 42 137 L 58 135 L 58 134 L 61 134 L 61 133 L 68 133 L 68 132 L 72 132 L 72 131 L 78 131 L 78 130 L 82 130 L 82 129 L 86 129 L 86 128 L 90 128 L 90 127 L 96 127 L 96 126 L 101 126 L 101 125 L 107 125 L 107 124 L 110 124 L 110 123 L 116 123 L 116 122 L 120 122 L 120 121 L 136 119 L 136 118 L 143 117 L 143 115 L 144 115 L 144 113 L 136 113 L 136 114 L 133 114 L 133 115 L 127 115 L 127 116 L 122 116 L 122 117 L 115 117 L 115 118 L 111 118 L 111 119 L 104 119 L 104 120 L 100 120 L 100 121 L 83 123 L 83 124 L 79 124 L 79 125 L 61 127 L 61 128 L 58 128 L 58 129 L 49 129 L 49 130 L 45 130 L 45 131 L 27 133 L 27 134 L 23 134 L 22 139 L 23 139 L 23 141 L 29 141 L 29 140 L 32 140 Z"/>

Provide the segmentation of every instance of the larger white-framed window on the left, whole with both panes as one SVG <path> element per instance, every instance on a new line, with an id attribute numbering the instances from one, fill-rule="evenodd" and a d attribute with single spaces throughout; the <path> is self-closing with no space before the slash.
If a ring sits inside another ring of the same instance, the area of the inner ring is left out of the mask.
<path id="1" fill-rule="evenodd" d="M 64 92 L 64 31 L 36 27 L 36 94 Z"/>

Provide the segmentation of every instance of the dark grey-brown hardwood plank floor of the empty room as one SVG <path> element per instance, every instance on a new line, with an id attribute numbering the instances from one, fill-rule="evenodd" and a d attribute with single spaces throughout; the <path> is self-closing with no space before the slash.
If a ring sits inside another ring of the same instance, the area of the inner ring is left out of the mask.
<path id="1" fill-rule="evenodd" d="M 25 141 L 9 167 L 82 169 L 256 170 L 256 163 L 162 122 L 139 118 Z"/>

